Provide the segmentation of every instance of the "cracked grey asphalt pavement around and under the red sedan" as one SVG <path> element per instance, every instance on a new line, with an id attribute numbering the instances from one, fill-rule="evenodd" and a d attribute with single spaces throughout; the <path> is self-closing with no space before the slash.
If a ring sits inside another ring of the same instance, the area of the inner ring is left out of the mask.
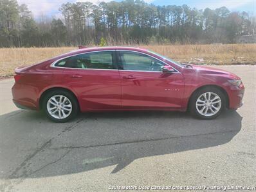
<path id="1" fill-rule="evenodd" d="M 84 113 L 55 124 L 15 108 L 0 81 L 0 190 L 109 191 L 109 186 L 252 186 L 256 67 L 217 66 L 246 87 L 215 120 L 178 112 Z"/>

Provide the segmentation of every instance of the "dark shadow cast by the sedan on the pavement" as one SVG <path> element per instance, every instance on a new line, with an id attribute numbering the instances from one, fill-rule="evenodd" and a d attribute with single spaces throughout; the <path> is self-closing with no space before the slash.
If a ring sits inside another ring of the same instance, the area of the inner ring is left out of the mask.
<path id="1" fill-rule="evenodd" d="M 242 117 L 236 111 L 225 111 L 215 120 L 181 112 L 104 112 L 55 124 L 42 113 L 19 110 L 0 116 L 0 121 L 0 166 L 7 167 L 1 178 L 14 179 L 107 166 L 117 173 L 143 157 L 223 145 L 241 130 Z"/>

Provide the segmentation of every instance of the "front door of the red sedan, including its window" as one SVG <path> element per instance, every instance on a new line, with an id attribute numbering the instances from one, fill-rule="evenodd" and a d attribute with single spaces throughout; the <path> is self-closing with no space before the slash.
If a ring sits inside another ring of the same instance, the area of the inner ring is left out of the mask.
<path id="1" fill-rule="evenodd" d="M 166 65 L 141 52 L 117 51 L 124 109 L 179 109 L 183 98 L 183 75 L 163 73 Z"/>

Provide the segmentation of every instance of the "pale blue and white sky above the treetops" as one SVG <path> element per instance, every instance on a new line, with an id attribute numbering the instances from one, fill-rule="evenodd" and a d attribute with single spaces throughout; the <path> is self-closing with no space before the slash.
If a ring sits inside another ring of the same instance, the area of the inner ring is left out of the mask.
<path id="1" fill-rule="evenodd" d="M 32 11 L 35 17 L 39 15 L 48 15 L 59 17 L 59 8 L 62 3 L 75 3 L 77 1 L 88 1 L 88 0 L 17 0 L 19 4 L 25 3 L 28 8 Z M 110 0 L 104 0 L 105 2 Z M 120 0 L 116 0 L 120 1 Z M 97 4 L 98 0 L 90 0 L 90 2 Z M 256 0 L 146 0 L 147 3 L 153 3 L 156 5 L 168 5 L 176 4 L 182 5 L 187 4 L 192 8 L 204 9 L 204 8 L 219 8 L 226 6 L 231 11 L 246 11 L 250 14 L 256 15 Z"/>

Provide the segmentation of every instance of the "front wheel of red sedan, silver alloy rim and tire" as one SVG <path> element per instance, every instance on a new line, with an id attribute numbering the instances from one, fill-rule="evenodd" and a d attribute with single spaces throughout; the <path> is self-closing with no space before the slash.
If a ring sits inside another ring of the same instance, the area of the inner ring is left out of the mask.
<path id="1" fill-rule="evenodd" d="M 213 119 L 221 114 L 226 106 L 226 100 L 221 90 L 209 87 L 203 88 L 190 100 L 190 112 L 201 119 Z"/>

